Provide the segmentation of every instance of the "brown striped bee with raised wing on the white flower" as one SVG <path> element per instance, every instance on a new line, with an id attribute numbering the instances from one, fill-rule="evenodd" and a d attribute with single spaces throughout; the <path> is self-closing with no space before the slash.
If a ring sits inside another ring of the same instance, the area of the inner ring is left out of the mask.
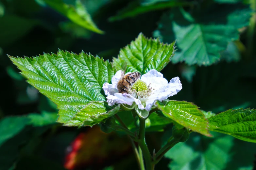
<path id="1" fill-rule="evenodd" d="M 141 74 L 138 72 L 125 75 L 125 71 L 126 62 L 122 65 L 121 78 L 117 83 L 117 89 L 119 93 L 128 93 L 128 88 L 141 77 Z"/>

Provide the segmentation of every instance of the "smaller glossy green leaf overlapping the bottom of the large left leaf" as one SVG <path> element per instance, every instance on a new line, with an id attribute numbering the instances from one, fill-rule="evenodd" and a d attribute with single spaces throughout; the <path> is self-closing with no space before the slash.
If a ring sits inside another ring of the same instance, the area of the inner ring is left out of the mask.
<path id="1" fill-rule="evenodd" d="M 66 123 L 66 125 L 69 126 L 69 123 L 71 123 L 71 125 L 76 123 L 78 126 L 93 126 L 113 116 L 119 109 L 120 105 L 109 106 L 108 103 L 104 101 L 90 102 L 72 118 L 72 121 Z"/>

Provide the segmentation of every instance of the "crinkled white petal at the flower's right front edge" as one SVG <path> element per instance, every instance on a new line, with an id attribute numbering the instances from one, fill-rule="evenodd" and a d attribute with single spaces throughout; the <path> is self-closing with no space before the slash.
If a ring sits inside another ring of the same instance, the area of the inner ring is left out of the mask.
<path id="1" fill-rule="evenodd" d="M 182 84 L 179 77 L 172 78 L 170 83 L 160 87 L 158 90 L 154 91 L 154 94 L 149 96 L 148 101 L 146 101 L 146 110 L 150 110 L 157 100 L 163 101 L 170 96 L 177 94 L 182 89 Z"/>

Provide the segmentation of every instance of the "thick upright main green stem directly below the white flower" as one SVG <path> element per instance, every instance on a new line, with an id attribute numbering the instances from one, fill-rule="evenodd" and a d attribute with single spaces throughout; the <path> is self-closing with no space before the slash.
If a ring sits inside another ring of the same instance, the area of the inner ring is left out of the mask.
<path id="1" fill-rule="evenodd" d="M 146 141 L 145 141 L 145 119 L 140 118 L 140 132 L 139 132 L 139 141 L 138 144 L 142 150 L 145 164 L 146 164 L 146 170 L 152 170 L 152 157 L 150 155 L 150 152 L 147 148 Z"/>

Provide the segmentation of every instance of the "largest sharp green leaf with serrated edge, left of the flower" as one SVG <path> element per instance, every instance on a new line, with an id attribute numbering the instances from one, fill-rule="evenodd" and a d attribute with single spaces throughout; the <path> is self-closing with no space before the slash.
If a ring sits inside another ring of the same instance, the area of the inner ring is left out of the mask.
<path id="1" fill-rule="evenodd" d="M 69 122 L 69 126 L 87 104 L 106 100 L 102 85 L 115 74 L 108 61 L 84 52 L 77 55 L 59 50 L 57 54 L 33 58 L 9 57 L 28 78 L 27 82 L 58 106 L 58 122 Z"/>

